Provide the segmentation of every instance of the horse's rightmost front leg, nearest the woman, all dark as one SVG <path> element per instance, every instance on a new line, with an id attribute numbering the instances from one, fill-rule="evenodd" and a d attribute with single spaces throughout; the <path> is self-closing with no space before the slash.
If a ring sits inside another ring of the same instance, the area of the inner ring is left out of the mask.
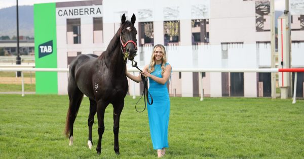
<path id="1" fill-rule="evenodd" d="M 113 133 L 114 133 L 114 151 L 116 154 L 119 153 L 119 141 L 118 141 L 118 134 L 119 134 L 119 120 L 120 120 L 120 115 L 123 111 L 124 108 L 124 99 L 117 102 L 113 103 Z"/>

